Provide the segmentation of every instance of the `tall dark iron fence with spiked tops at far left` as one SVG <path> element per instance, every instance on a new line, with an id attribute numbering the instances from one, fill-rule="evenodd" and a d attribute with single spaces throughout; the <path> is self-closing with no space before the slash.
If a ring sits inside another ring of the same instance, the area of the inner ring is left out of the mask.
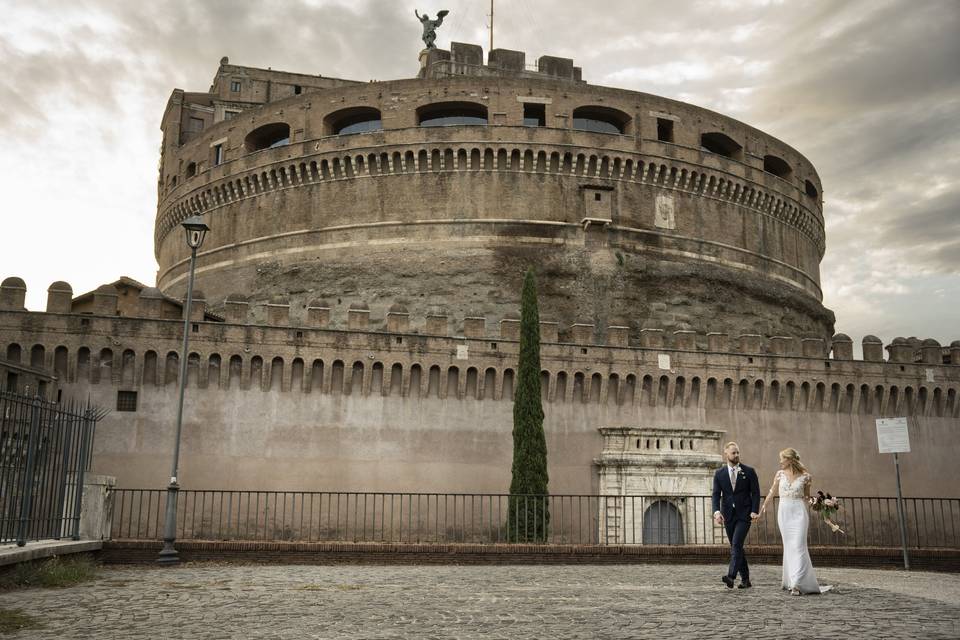
<path id="1" fill-rule="evenodd" d="M 90 405 L 0 392 L 0 543 L 78 539 L 78 487 L 101 417 Z"/>

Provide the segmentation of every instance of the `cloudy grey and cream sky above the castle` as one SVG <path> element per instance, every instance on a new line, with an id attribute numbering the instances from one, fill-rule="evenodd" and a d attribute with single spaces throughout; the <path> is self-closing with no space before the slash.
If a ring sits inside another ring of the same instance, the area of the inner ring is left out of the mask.
<path id="1" fill-rule="evenodd" d="M 587 7 L 595 7 L 590 10 Z M 152 284 L 160 117 L 221 56 L 357 80 L 413 76 L 414 8 L 438 45 L 483 43 L 487 0 L 0 0 L 0 277 L 27 306 Z M 960 1 L 500 1 L 495 46 L 571 57 L 593 84 L 726 113 L 823 180 L 837 330 L 960 339 Z"/>

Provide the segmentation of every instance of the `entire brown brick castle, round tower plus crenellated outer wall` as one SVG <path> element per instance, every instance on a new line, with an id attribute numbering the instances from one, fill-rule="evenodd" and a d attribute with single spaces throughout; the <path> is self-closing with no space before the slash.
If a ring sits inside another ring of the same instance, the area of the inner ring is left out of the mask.
<path id="1" fill-rule="evenodd" d="M 819 483 L 891 495 L 884 416 L 910 421 L 908 495 L 960 485 L 960 342 L 867 336 L 854 359 L 822 304 L 820 179 L 744 123 L 453 43 L 386 82 L 224 58 L 161 128 L 156 288 L 58 282 L 41 313 L 0 287 L 8 385 L 113 409 L 94 464 L 121 487 L 167 479 L 193 215 L 184 487 L 505 491 L 528 266 L 552 492 L 722 433 L 764 476 L 793 446 Z"/>

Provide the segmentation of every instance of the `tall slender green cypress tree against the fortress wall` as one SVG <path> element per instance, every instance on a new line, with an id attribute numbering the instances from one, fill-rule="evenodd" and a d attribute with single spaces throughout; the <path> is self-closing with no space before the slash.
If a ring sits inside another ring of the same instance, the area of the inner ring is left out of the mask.
<path id="1" fill-rule="evenodd" d="M 550 523 L 547 440 L 540 399 L 540 313 L 533 269 L 520 297 L 520 362 L 513 400 L 513 467 L 507 532 L 511 542 L 544 542 Z"/>

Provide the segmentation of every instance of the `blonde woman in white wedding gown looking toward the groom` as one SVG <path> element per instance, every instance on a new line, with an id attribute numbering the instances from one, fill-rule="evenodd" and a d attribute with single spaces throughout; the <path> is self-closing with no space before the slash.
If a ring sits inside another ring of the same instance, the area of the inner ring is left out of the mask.
<path id="1" fill-rule="evenodd" d="M 777 526 L 780 527 L 780 537 L 783 538 L 783 588 L 795 596 L 802 593 L 825 593 L 831 589 L 817 583 L 813 563 L 810 562 L 810 552 L 807 550 L 810 481 L 810 474 L 800 462 L 800 454 L 796 449 L 784 449 L 780 452 L 780 470 L 773 476 L 773 484 L 759 514 L 764 514 L 767 503 L 779 491 Z"/>

